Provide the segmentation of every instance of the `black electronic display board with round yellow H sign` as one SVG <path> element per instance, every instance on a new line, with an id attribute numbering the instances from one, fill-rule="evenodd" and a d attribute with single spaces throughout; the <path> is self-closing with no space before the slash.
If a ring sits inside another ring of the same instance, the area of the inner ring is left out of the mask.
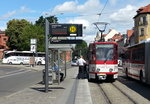
<path id="1" fill-rule="evenodd" d="M 82 24 L 50 24 L 52 37 L 81 37 Z"/>

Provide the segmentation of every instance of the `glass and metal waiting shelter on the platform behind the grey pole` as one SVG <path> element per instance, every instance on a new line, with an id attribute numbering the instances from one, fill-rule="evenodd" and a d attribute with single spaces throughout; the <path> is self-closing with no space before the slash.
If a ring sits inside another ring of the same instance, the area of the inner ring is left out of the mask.
<path id="1" fill-rule="evenodd" d="M 54 82 L 60 83 L 60 73 L 63 73 L 63 78 L 67 75 L 67 65 L 71 60 L 66 60 L 66 52 L 70 51 L 70 59 L 72 54 L 72 45 L 70 44 L 50 44 L 49 45 L 49 68 L 52 74 L 51 84 Z M 58 70 L 54 70 L 55 65 Z"/>

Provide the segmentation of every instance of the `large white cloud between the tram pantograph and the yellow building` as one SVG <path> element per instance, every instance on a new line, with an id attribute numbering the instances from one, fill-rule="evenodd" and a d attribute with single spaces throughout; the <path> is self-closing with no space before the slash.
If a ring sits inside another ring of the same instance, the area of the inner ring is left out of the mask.
<path id="1" fill-rule="evenodd" d="M 127 29 L 134 27 L 133 17 L 136 15 L 138 8 L 132 5 L 127 5 L 125 8 L 119 9 L 112 13 L 108 20 L 110 21 L 110 28 L 116 29 L 118 32 L 126 33 Z"/>

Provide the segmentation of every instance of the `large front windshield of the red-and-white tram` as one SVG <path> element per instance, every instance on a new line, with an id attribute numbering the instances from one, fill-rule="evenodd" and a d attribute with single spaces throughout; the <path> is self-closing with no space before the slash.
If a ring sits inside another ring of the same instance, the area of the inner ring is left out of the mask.
<path id="1" fill-rule="evenodd" d="M 96 45 L 96 60 L 97 61 L 112 61 L 114 59 L 113 44 L 97 44 Z"/>

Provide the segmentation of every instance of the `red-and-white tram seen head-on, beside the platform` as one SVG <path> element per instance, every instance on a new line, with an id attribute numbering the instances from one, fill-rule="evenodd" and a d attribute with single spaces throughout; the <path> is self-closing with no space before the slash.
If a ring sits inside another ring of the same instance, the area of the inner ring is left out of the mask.
<path id="1" fill-rule="evenodd" d="M 118 44 L 94 42 L 89 45 L 88 78 L 115 80 L 118 78 Z"/>

